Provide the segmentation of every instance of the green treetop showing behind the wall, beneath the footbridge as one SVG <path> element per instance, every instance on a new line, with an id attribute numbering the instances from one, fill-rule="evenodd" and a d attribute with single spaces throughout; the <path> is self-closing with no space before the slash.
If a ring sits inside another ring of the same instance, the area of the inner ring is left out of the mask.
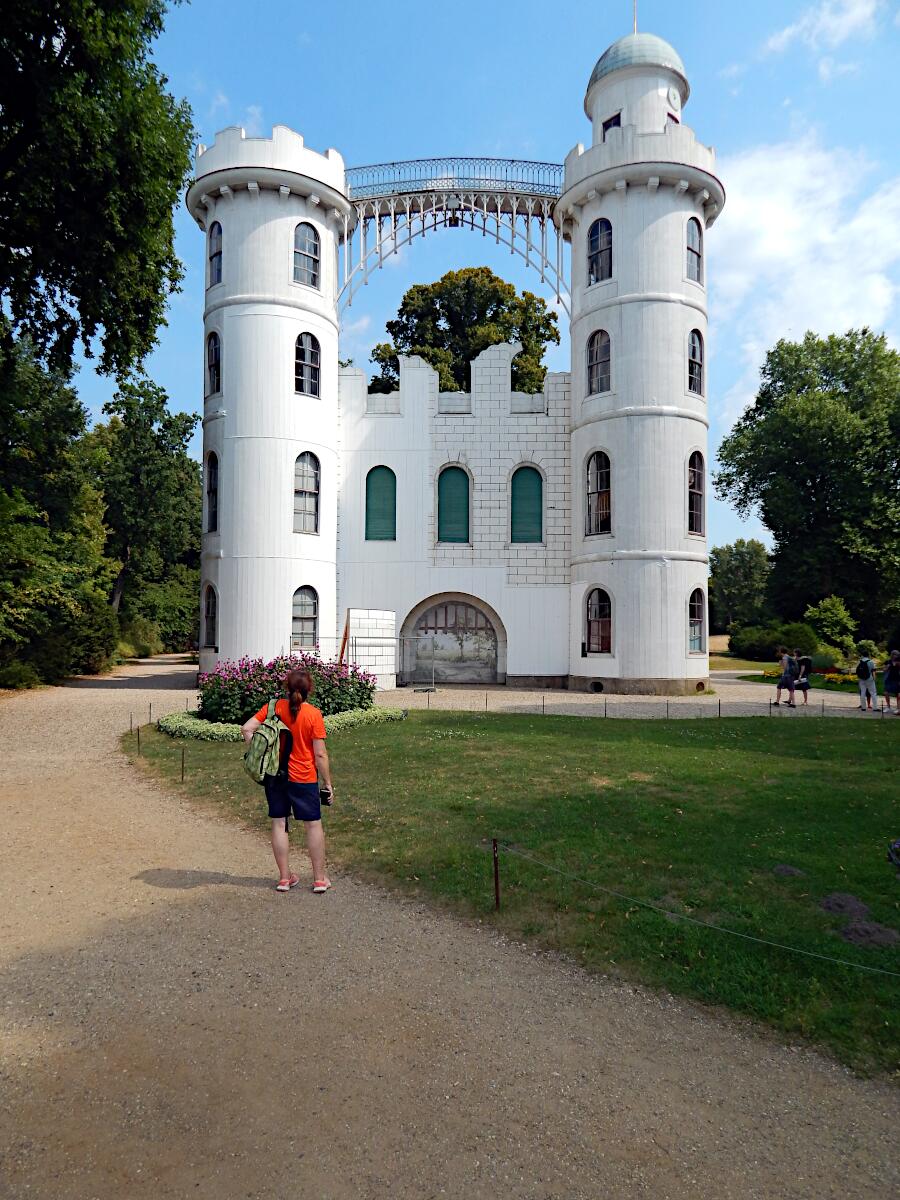
<path id="1" fill-rule="evenodd" d="M 487 266 L 448 271 L 436 283 L 416 283 L 388 322 L 391 342 L 372 352 L 379 367 L 371 391 L 400 385 L 398 354 L 418 354 L 438 372 L 440 391 L 468 391 L 472 359 L 499 342 L 521 342 L 512 360 L 512 389 L 540 391 L 547 368 L 544 352 L 559 343 L 557 314 L 540 296 L 521 295 Z"/>

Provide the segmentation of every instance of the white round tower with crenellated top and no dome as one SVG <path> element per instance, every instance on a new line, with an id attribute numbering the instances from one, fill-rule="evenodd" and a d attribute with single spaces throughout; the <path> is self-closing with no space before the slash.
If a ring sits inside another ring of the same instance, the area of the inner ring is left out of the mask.
<path id="1" fill-rule="evenodd" d="M 199 146 L 206 236 L 200 670 L 336 635 L 341 155 L 241 128 Z"/>

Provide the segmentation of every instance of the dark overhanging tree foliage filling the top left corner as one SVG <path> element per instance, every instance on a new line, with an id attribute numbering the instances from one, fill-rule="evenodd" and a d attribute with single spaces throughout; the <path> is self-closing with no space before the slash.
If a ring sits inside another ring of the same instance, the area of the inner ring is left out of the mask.
<path id="1" fill-rule="evenodd" d="M 0 300 L 55 365 L 122 372 L 178 288 L 192 142 L 150 61 L 164 0 L 16 0 L 0 23 Z"/>

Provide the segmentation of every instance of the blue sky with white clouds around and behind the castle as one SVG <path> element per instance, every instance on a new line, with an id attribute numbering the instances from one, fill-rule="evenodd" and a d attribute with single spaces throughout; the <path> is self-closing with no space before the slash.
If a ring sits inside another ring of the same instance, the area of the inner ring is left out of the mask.
<path id="1" fill-rule="evenodd" d="M 869 324 L 900 342 L 900 0 L 640 0 L 638 14 L 680 53 L 685 121 L 715 146 L 728 192 L 707 239 L 714 449 L 778 337 Z M 582 101 L 594 62 L 630 28 L 630 0 L 194 0 L 169 13 L 156 60 L 203 142 L 227 125 L 268 136 L 284 124 L 348 166 L 467 154 L 562 162 L 590 139 Z M 148 370 L 173 408 L 199 412 L 204 247 L 184 210 L 176 228 L 184 292 Z M 403 292 L 446 270 L 485 264 L 552 300 L 478 233 L 438 232 L 390 264 L 344 314 L 342 353 L 366 368 Z M 550 367 L 568 370 L 568 355 L 564 338 Z M 94 414 L 114 390 L 88 365 L 78 385 Z M 764 536 L 716 500 L 709 533 L 710 545 Z"/>

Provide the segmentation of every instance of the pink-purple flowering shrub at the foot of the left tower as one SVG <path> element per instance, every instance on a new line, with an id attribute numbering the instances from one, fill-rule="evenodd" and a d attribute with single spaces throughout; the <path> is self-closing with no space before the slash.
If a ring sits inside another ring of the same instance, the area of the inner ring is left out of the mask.
<path id="1" fill-rule="evenodd" d="M 312 676 L 312 701 L 324 716 L 372 707 L 374 676 L 353 664 L 323 662 L 312 654 L 301 654 L 271 662 L 220 662 L 215 671 L 200 674 L 199 715 L 208 721 L 241 725 L 272 696 L 283 695 L 284 676 L 294 668 Z"/>

